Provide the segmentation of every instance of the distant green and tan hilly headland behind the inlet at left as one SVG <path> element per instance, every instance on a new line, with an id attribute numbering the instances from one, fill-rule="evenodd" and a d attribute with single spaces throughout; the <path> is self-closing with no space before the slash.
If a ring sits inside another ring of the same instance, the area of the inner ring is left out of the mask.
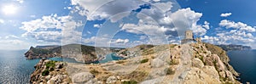
<path id="1" fill-rule="evenodd" d="M 70 58 L 83 63 L 91 63 L 102 59 L 108 53 L 118 52 L 122 48 L 92 47 L 81 44 L 68 44 L 64 46 L 37 46 L 31 47 L 26 53 L 27 59 L 41 58 Z"/>

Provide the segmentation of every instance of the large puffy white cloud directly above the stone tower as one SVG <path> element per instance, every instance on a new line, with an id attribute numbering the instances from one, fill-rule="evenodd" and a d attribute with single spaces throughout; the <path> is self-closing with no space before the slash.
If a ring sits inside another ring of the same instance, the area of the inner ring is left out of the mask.
<path id="1" fill-rule="evenodd" d="M 197 36 L 204 36 L 210 28 L 209 23 L 205 21 L 204 25 L 198 25 L 202 14 L 196 13 L 190 8 L 178 9 L 160 20 L 160 23 L 166 26 L 174 26 L 180 36 L 187 30 L 192 30 Z"/>

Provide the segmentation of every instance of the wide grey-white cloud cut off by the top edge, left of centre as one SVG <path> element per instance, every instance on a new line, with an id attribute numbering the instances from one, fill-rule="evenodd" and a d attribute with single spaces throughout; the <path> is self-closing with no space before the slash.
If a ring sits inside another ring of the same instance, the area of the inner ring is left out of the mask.
<path id="1" fill-rule="evenodd" d="M 72 0 L 75 6 L 73 12 L 87 16 L 87 20 L 104 20 L 109 17 L 123 13 L 131 12 L 143 4 L 136 0 Z"/>

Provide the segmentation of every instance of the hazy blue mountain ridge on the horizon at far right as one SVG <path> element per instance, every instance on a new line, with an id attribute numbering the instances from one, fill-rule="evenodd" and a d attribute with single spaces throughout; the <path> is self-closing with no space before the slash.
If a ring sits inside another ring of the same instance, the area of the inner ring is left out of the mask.
<path id="1" fill-rule="evenodd" d="M 235 44 L 230 44 L 230 45 L 217 45 L 220 48 L 223 48 L 225 51 L 230 51 L 230 50 L 250 50 L 252 49 L 249 46 L 242 46 L 242 45 L 235 45 Z"/>

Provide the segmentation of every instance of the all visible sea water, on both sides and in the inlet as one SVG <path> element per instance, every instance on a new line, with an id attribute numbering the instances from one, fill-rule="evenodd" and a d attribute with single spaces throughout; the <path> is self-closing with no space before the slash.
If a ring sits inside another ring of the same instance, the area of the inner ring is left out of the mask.
<path id="1" fill-rule="evenodd" d="M 40 59 L 27 60 L 24 57 L 26 50 L 5 51 L 0 50 L 0 84 L 27 84 L 30 75 L 34 69 L 34 65 L 38 64 Z M 239 79 L 242 83 L 251 82 L 256 84 L 256 50 L 248 51 L 230 51 L 230 64 L 236 71 L 241 73 Z M 66 61 L 71 63 L 79 63 L 74 59 L 52 58 L 53 60 Z M 106 63 L 121 58 L 110 53 L 106 59 L 98 61 L 98 63 Z"/>

